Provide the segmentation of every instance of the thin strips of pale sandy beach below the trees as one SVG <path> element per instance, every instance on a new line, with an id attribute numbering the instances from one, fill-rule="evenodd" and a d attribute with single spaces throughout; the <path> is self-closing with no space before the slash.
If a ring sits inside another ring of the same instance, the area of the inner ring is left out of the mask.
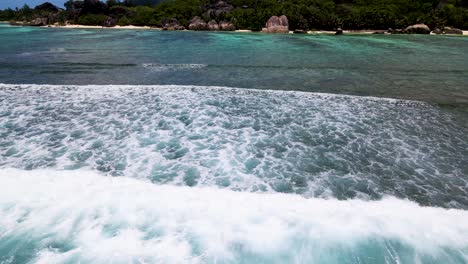
<path id="1" fill-rule="evenodd" d="M 9 23 L 10 21 L 0 21 L 0 23 Z M 40 26 L 41 28 L 65 28 L 65 29 L 127 29 L 127 30 L 156 30 L 163 31 L 163 28 L 160 27 L 150 27 L 150 26 L 114 26 L 114 27 L 103 27 L 103 26 L 89 26 L 89 25 L 79 25 L 79 24 L 69 24 L 69 25 L 47 25 Z M 178 31 L 193 31 L 193 30 L 178 30 Z M 206 32 L 235 32 L 235 33 L 255 33 L 255 31 L 249 29 L 237 29 L 234 31 L 206 31 Z M 459 36 L 468 36 L 468 30 L 462 30 L 463 34 Z M 259 33 L 262 33 L 259 31 Z M 304 35 L 335 35 L 336 31 L 331 30 L 309 30 L 304 33 Z M 373 35 L 373 34 L 382 34 L 382 35 L 393 35 L 388 34 L 386 30 L 372 30 L 372 29 L 363 29 L 363 30 L 343 30 L 343 33 L 346 35 Z M 266 33 L 268 34 L 268 33 Z M 293 31 L 289 31 L 286 34 L 294 34 Z M 300 35 L 300 34 L 297 34 Z M 430 34 L 436 35 L 436 34 Z M 443 36 L 457 36 L 455 34 L 441 34 Z"/>

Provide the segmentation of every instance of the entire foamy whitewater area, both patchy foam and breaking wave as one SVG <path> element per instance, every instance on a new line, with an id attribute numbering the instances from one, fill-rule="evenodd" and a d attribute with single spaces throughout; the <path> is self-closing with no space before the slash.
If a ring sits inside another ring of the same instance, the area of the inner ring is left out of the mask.
<path id="1" fill-rule="evenodd" d="M 0 84 L 0 263 L 467 263 L 466 124 L 377 97 Z"/>

